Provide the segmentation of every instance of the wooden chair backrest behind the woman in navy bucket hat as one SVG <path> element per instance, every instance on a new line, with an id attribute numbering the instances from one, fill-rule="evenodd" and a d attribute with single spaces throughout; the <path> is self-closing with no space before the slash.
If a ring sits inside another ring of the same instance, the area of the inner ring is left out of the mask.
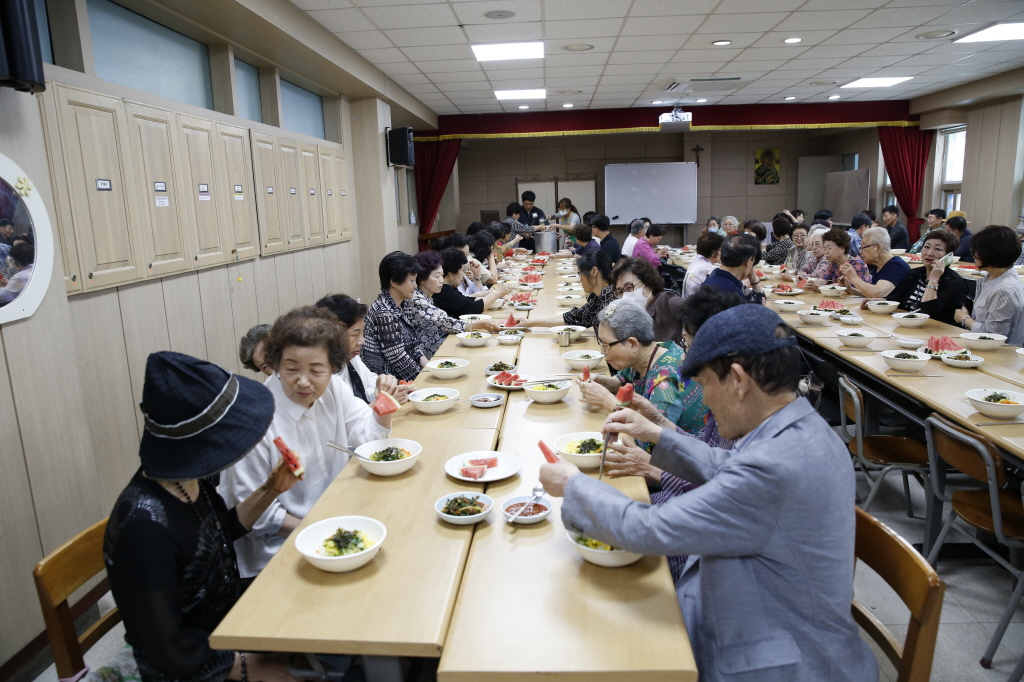
<path id="1" fill-rule="evenodd" d="M 106 530 L 104 518 L 78 534 L 67 543 L 50 552 L 36 564 L 33 577 L 39 604 L 46 622 L 46 634 L 53 648 L 57 677 L 74 677 L 85 669 L 83 653 L 120 623 L 121 613 L 114 608 L 104 613 L 89 627 L 81 637 L 75 632 L 75 620 L 68 600 L 76 590 L 102 571 L 103 532 Z M 83 598 L 93 603 L 109 590 L 105 579 Z"/>

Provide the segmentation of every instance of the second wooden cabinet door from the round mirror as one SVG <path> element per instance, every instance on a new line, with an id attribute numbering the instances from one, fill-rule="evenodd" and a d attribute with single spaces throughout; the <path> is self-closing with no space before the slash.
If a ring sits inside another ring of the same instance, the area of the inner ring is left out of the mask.
<path id="1" fill-rule="evenodd" d="M 191 268 L 185 190 L 173 112 L 126 105 L 135 174 L 128 179 L 138 206 L 145 276 Z"/>

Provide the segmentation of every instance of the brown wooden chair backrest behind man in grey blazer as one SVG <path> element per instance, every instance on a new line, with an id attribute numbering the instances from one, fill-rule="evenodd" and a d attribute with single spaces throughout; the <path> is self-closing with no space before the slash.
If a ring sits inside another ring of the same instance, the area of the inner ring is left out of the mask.
<path id="1" fill-rule="evenodd" d="M 870 609 L 853 602 L 853 617 L 878 643 L 898 672 L 897 682 L 927 682 L 932 674 L 935 638 L 946 585 L 905 540 L 877 518 L 856 510 L 855 554 L 891 587 L 910 610 L 902 644 L 874 617 Z"/>

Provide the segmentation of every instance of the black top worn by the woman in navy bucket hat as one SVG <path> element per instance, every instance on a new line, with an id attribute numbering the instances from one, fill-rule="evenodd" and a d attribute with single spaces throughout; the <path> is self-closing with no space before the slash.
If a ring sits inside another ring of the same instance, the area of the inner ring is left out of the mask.
<path id="1" fill-rule="evenodd" d="M 246 535 L 209 480 L 194 505 L 135 473 L 114 505 L 103 562 L 144 682 L 220 682 L 234 652 L 210 633 L 238 601 L 233 542 Z"/>

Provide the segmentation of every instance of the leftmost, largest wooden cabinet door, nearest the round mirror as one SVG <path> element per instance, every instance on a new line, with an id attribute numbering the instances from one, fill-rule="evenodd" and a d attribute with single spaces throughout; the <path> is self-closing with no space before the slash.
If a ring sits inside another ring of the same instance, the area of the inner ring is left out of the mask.
<path id="1" fill-rule="evenodd" d="M 83 288 L 143 276 L 125 103 L 58 86 L 57 113 Z"/>

